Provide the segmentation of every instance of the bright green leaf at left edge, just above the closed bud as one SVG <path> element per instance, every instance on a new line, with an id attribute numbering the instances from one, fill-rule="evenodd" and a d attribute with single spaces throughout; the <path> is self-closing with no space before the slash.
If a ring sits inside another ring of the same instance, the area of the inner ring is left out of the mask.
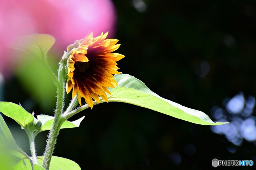
<path id="1" fill-rule="evenodd" d="M 0 112 L 14 119 L 22 127 L 25 127 L 34 121 L 32 114 L 28 113 L 25 109 L 15 103 L 1 101 Z"/>

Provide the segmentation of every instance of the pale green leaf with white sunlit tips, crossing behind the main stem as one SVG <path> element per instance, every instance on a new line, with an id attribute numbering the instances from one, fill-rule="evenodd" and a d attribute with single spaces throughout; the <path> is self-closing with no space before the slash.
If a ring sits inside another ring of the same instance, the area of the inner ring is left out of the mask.
<path id="1" fill-rule="evenodd" d="M 62 125 L 61 125 L 61 129 L 64 129 L 64 128 L 73 128 L 73 127 L 79 127 L 80 123 L 82 122 L 82 120 L 84 119 L 85 116 L 81 117 L 80 119 L 78 120 L 75 120 L 75 121 L 65 121 Z M 44 130 L 50 130 L 51 129 L 51 126 L 52 126 L 52 123 L 53 123 L 53 120 L 54 120 L 54 117 L 52 116 L 49 116 L 49 115 L 44 115 L 44 114 L 41 114 L 41 115 L 37 115 L 37 118 L 38 120 L 40 120 L 42 122 L 42 127 L 39 129 L 39 131 L 44 131 Z"/>

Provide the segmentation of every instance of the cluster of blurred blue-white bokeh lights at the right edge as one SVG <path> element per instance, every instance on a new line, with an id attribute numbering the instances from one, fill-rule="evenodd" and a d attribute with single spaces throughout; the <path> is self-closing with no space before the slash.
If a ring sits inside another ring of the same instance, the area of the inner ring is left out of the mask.
<path id="1" fill-rule="evenodd" d="M 255 98 L 248 96 L 244 98 L 243 93 L 235 95 L 233 98 L 225 98 L 223 105 L 226 108 L 214 106 L 211 108 L 212 117 L 218 122 L 230 122 L 229 124 L 211 126 L 214 133 L 225 135 L 226 139 L 234 145 L 239 146 L 243 139 L 256 143 L 256 123 L 255 116 L 252 116 L 255 107 Z M 230 149 L 235 152 L 235 149 Z"/>

